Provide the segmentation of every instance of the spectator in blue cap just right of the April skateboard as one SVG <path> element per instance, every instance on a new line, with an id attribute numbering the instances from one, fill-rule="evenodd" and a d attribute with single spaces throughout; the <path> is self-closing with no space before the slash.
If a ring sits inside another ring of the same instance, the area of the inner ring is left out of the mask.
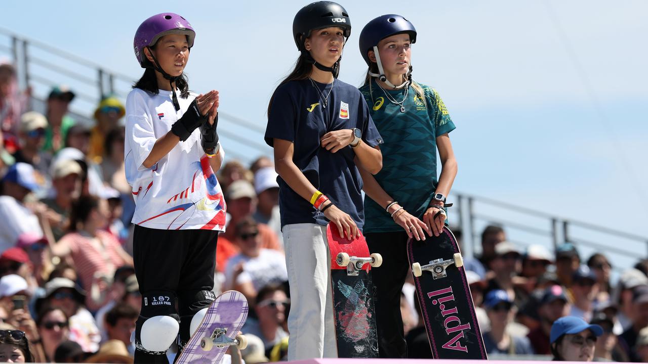
<path id="1" fill-rule="evenodd" d="M 486 295 L 484 308 L 491 321 L 491 330 L 483 335 L 484 347 L 489 354 L 533 354 L 529 339 L 515 336 L 507 326 L 515 316 L 513 299 L 504 290 L 492 290 Z"/>

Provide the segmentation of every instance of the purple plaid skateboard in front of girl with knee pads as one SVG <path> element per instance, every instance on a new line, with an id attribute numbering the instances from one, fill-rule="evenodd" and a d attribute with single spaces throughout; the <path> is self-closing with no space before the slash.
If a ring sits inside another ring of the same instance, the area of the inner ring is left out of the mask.
<path id="1" fill-rule="evenodd" d="M 247 318 L 248 300 L 244 295 L 238 291 L 223 292 L 207 309 L 176 363 L 220 363 L 230 345 L 244 349 L 248 342 L 238 332 Z"/>

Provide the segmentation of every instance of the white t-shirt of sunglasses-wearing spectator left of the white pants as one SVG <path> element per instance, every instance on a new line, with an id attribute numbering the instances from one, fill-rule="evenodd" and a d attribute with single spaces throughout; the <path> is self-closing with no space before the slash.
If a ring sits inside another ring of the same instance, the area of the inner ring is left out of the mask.
<path id="1" fill-rule="evenodd" d="M 274 249 L 261 249 L 259 256 L 250 258 L 241 253 L 227 260 L 225 267 L 225 286 L 230 290 L 234 286 L 234 268 L 244 262 L 243 272 L 238 275 L 237 284 L 252 282 L 259 291 L 268 283 L 279 283 L 288 280 L 286 257 Z"/>

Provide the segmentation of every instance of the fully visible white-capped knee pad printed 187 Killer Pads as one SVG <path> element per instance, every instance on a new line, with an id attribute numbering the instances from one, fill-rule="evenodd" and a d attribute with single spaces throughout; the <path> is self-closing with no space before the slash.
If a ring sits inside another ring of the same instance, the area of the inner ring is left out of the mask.
<path id="1" fill-rule="evenodd" d="M 179 321 L 176 297 L 172 292 L 144 293 L 135 326 L 135 346 L 151 354 L 166 352 L 178 337 Z"/>

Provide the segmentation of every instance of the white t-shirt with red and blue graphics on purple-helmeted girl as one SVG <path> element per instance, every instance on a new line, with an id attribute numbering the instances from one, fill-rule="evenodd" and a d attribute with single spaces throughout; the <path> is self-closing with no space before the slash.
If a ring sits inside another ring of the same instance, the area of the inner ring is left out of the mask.
<path id="1" fill-rule="evenodd" d="M 178 97 L 180 111 L 173 106 L 171 91 L 152 95 L 133 89 L 126 98 L 124 168 L 135 199 L 132 222 L 137 225 L 225 231 L 225 199 L 200 144 L 200 130 L 178 142 L 151 168 L 142 164 L 156 140 L 171 130 L 194 98 L 194 93 L 186 99 Z M 220 154 L 225 156 L 222 148 Z"/>

